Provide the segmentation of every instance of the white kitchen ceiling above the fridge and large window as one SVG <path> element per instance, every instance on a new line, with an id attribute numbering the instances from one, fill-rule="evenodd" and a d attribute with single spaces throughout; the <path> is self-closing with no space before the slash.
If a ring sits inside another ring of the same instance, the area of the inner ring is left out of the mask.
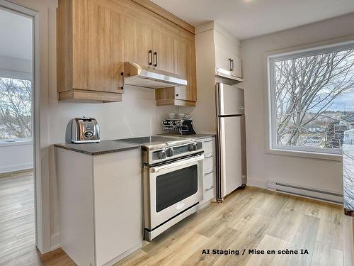
<path id="1" fill-rule="evenodd" d="M 354 12 L 353 0 L 152 0 L 198 26 L 217 21 L 240 40 Z"/>

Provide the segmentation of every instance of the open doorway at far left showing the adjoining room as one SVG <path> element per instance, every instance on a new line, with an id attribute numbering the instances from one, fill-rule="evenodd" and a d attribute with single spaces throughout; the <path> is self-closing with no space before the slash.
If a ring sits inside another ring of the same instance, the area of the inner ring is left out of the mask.
<path id="1" fill-rule="evenodd" d="M 0 2 L 0 265 L 38 252 L 34 174 L 34 18 Z"/>

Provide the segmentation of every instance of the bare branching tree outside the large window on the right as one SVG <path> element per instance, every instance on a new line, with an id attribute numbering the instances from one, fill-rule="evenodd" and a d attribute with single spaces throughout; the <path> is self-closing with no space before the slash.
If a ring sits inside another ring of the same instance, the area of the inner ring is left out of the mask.
<path id="1" fill-rule="evenodd" d="M 353 86 L 354 50 L 275 62 L 278 143 L 287 135 L 287 145 L 301 145 L 305 126 Z"/>

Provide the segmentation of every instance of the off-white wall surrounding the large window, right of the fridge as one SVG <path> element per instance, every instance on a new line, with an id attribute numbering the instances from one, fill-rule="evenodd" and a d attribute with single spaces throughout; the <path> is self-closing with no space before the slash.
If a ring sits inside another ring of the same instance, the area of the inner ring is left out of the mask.
<path id="1" fill-rule="evenodd" d="M 265 152 L 266 79 L 263 54 L 273 50 L 338 42 L 336 38 L 354 35 L 354 14 L 308 26 L 241 41 L 246 106 L 247 176 L 249 184 L 265 186 L 280 181 L 325 189 L 342 194 L 342 164 L 331 160 L 309 159 Z M 354 39 L 354 36 L 353 36 Z"/>

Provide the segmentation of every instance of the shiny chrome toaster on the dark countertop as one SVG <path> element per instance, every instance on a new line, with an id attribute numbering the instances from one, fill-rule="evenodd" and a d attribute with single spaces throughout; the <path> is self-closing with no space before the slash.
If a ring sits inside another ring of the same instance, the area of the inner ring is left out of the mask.
<path id="1" fill-rule="evenodd" d="M 100 142 L 100 127 L 95 118 L 80 117 L 72 120 L 73 143 Z"/>

